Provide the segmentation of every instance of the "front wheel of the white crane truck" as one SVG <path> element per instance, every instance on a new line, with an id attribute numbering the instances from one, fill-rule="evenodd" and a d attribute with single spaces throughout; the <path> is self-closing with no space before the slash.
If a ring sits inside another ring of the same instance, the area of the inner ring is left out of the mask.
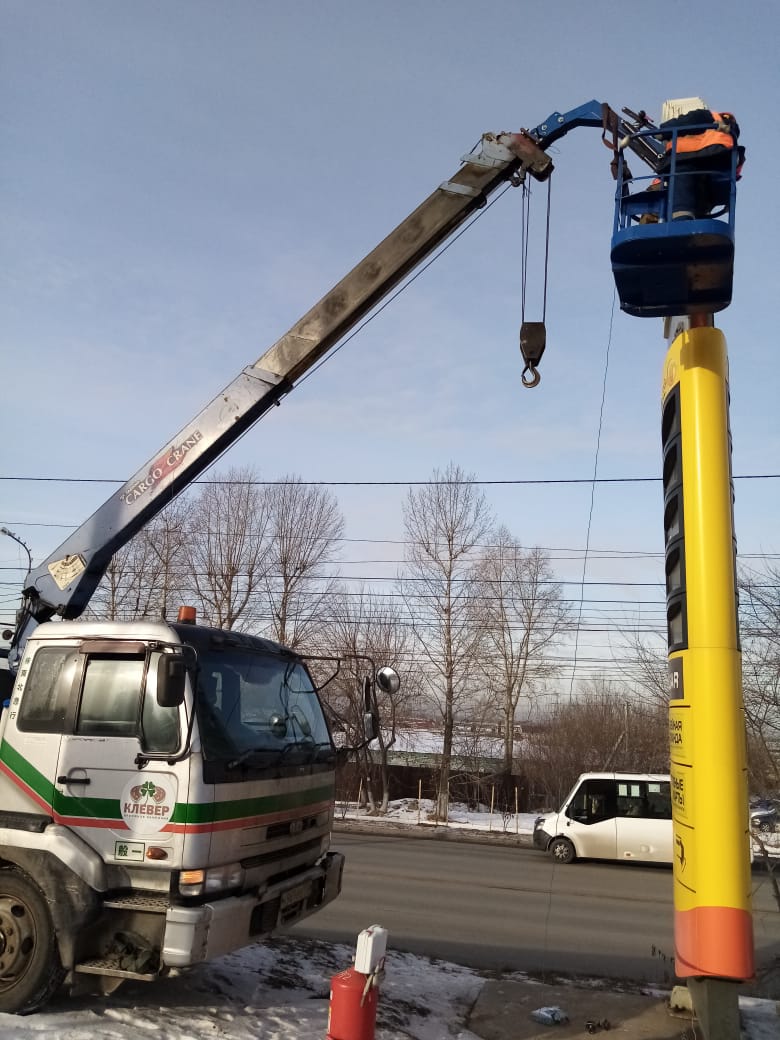
<path id="1" fill-rule="evenodd" d="M 0 870 L 0 1011 L 35 1011 L 63 976 L 41 889 L 20 870 Z"/>

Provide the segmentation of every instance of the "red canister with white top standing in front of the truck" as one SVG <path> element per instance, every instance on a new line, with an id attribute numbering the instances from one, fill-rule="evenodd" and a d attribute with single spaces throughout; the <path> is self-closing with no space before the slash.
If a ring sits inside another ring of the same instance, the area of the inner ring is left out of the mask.
<path id="1" fill-rule="evenodd" d="M 373 925 L 358 936 L 355 964 L 331 979 L 326 1040 L 374 1040 L 379 981 L 387 932 Z"/>

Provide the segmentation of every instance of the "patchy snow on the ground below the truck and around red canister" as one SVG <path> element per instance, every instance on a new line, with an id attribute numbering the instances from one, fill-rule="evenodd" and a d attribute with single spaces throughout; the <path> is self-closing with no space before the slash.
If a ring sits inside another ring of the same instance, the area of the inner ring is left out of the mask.
<path id="1" fill-rule="evenodd" d="M 66 999 L 23 1018 L 0 1014 L 2 1040 L 324 1040 L 332 976 L 354 948 L 280 936 L 174 978 Z M 484 980 L 470 968 L 388 952 L 378 1040 L 473 1040 L 463 1022 Z"/>

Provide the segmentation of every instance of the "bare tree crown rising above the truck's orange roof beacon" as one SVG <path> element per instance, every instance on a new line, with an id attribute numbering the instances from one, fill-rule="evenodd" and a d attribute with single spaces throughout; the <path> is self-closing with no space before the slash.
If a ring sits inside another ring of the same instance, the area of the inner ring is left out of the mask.
<path id="1" fill-rule="evenodd" d="M 252 469 L 231 469 L 190 500 L 185 556 L 199 615 L 218 628 L 257 623 L 269 566 L 270 523 Z"/>

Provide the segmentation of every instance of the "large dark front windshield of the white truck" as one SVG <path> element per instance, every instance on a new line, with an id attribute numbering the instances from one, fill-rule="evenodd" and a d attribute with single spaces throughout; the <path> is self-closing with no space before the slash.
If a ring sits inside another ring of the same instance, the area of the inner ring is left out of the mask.
<path id="1" fill-rule="evenodd" d="M 229 769 L 330 758 L 308 672 L 289 657 L 231 647 L 200 655 L 196 710 L 204 755 Z"/>

